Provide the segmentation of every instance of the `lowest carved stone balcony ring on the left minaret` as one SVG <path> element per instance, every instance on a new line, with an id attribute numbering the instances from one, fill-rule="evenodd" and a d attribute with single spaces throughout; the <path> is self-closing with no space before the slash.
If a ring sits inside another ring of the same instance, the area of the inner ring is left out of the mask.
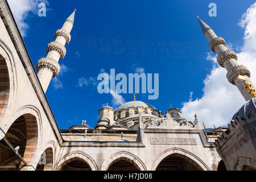
<path id="1" fill-rule="evenodd" d="M 60 72 L 60 65 L 54 59 L 49 57 L 43 57 L 39 59 L 38 63 L 36 64 L 36 71 L 39 72 L 40 68 L 48 68 L 53 73 L 53 78 L 56 77 Z"/>

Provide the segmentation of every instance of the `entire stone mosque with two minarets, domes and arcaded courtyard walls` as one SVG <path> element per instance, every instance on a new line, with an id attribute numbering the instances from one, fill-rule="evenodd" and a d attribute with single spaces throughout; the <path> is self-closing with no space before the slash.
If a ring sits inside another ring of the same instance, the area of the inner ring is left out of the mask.
<path id="1" fill-rule="evenodd" d="M 95 128 L 83 121 L 60 130 L 45 93 L 60 72 L 75 11 L 36 67 L 5 0 L 0 0 L 0 16 L 0 171 L 255 169 L 255 87 L 250 72 L 203 20 L 199 22 L 210 49 L 246 100 L 228 127 L 205 130 L 196 113 L 194 121 L 187 121 L 176 107 L 162 113 L 134 95 L 116 110 L 109 105 L 98 110 Z"/>

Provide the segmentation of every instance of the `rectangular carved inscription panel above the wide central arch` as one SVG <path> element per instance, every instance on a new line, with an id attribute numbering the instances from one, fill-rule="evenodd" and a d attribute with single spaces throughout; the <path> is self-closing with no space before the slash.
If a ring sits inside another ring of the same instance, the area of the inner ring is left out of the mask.
<path id="1" fill-rule="evenodd" d="M 152 145 L 197 145 L 195 138 L 150 138 Z"/>

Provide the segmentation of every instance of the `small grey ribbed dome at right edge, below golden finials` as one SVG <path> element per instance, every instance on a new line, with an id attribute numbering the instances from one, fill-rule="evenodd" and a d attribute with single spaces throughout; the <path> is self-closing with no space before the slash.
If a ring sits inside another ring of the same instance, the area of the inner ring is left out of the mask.
<path id="1" fill-rule="evenodd" d="M 251 111 L 256 112 L 256 98 L 252 98 L 250 101 L 247 101 L 245 105 L 243 105 L 236 114 L 234 114 L 232 119 L 235 119 L 237 117 L 243 117 L 243 114 L 248 115 L 251 113 Z"/>

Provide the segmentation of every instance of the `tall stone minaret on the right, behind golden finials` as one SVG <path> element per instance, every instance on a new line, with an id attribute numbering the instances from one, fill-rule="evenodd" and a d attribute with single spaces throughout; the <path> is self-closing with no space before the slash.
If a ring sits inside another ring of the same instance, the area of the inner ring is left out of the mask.
<path id="1" fill-rule="evenodd" d="M 201 20 L 198 16 L 197 18 L 199 19 L 199 23 L 204 35 L 209 40 L 210 50 L 218 54 L 218 64 L 221 67 L 226 68 L 226 71 L 228 71 L 226 74 L 228 81 L 231 84 L 237 86 L 238 90 L 241 92 L 243 98 L 245 98 L 246 101 L 255 97 L 255 86 L 250 80 L 249 69 L 243 65 L 238 64 L 236 53 L 226 49 L 225 40 L 223 38 L 217 37 L 217 35 L 214 33 L 212 28 L 208 26 L 208 24 L 204 23 L 203 20 Z M 250 86 L 248 87 L 248 85 Z"/>

